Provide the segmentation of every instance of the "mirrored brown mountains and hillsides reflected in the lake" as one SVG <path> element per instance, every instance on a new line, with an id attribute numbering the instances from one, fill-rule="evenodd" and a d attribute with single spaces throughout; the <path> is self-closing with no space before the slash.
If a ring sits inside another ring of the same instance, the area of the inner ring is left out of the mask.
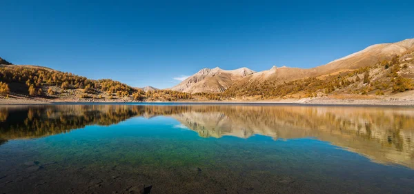
<path id="1" fill-rule="evenodd" d="M 172 117 L 201 137 L 314 137 L 381 164 L 414 168 L 414 108 L 348 106 L 56 105 L 0 108 L 0 145 L 130 117 Z"/>

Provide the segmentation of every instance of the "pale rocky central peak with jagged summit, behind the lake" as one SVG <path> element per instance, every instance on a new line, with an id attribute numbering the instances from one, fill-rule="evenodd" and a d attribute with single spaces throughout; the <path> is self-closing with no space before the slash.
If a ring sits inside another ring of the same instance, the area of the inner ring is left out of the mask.
<path id="1" fill-rule="evenodd" d="M 236 70 L 222 70 L 221 68 L 204 68 L 181 81 L 180 84 L 170 88 L 171 90 L 185 93 L 220 93 L 238 81 L 255 71 L 248 68 Z"/>

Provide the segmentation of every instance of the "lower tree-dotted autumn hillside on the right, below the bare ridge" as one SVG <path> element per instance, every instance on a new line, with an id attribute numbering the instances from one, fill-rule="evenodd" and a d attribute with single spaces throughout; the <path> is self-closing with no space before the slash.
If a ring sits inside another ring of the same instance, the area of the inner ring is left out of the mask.
<path id="1" fill-rule="evenodd" d="M 252 80 L 233 85 L 224 97 L 276 99 L 283 97 L 320 97 L 326 95 L 391 95 L 414 87 L 414 52 L 383 60 L 357 70 L 340 70 L 328 75 L 295 81 Z"/>

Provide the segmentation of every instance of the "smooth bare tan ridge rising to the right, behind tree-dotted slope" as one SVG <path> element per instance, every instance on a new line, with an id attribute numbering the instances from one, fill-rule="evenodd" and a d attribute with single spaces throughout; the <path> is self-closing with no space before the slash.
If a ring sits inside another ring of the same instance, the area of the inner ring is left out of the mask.
<path id="1" fill-rule="evenodd" d="M 364 50 L 355 52 L 341 59 L 331 61 L 330 63 L 317 66 L 315 68 L 276 68 L 273 66 L 270 70 L 256 72 L 248 75 L 233 84 L 233 90 L 244 90 L 257 84 L 271 82 L 272 84 L 283 84 L 287 81 L 304 79 L 308 77 L 321 77 L 336 75 L 341 72 L 357 70 L 359 68 L 371 67 L 379 64 L 380 61 L 391 60 L 396 55 L 404 55 L 414 50 L 414 39 L 406 39 L 397 43 L 381 43 L 369 46 Z"/>

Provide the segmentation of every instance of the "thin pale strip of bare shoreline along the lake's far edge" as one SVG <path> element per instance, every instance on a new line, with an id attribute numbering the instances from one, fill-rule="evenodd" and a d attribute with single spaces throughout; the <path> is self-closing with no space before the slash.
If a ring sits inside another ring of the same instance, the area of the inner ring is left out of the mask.
<path id="1" fill-rule="evenodd" d="M 260 101 L 243 101 L 243 100 L 227 100 L 227 101 L 42 101 L 38 99 L 0 99 L 0 106 L 7 105 L 46 105 L 46 104 L 291 104 L 299 106 L 414 106 L 414 99 L 338 99 L 330 97 L 315 97 L 303 99 L 275 99 Z"/>

